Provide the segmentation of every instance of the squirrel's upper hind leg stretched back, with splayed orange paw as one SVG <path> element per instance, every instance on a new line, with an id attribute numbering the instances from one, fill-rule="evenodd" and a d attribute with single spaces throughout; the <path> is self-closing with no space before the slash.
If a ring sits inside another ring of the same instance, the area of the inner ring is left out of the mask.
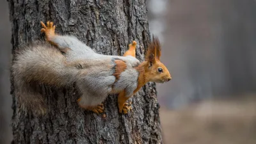
<path id="1" fill-rule="evenodd" d="M 53 22 L 48 21 L 46 23 L 46 26 L 44 22 L 41 22 L 41 25 L 43 27 L 41 29 L 41 32 L 45 33 L 47 41 L 53 45 L 56 45 L 62 52 L 67 52 L 69 49 L 88 48 L 85 44 L 83 44 L 83 42 L 81 42 L 74 36 L 56 35 Z M 88 51 L 92 51 L 92 49 L 88 49 Z"/>

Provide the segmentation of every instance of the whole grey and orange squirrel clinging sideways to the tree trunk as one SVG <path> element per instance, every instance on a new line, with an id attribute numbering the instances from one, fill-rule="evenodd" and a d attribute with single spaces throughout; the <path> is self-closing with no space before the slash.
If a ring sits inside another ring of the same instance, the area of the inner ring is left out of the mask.
<path id="1" fill-rule="evenodd" d="M 97 54 L 74 36 L 57 35 L 53 22 L 40 22 L 41 32 L 49 44 L 39 42 L 17 50 L 13 61 L 13 84 L 20 108 L 45 114 L 44 98 L 33 84 L 70 86 L 81 91 L 80 108 L 103 113 L 102 102 L 109 94 L 118 93 L 119 113 L 129 113 L 126 102 L 149 81 L 164 83 L 172 79 L 161 63 L 161 45 L 155 36 L 147 49 L 145 61 L 136 59 L 136 41 L 129 44 L 124 56 Z"/>

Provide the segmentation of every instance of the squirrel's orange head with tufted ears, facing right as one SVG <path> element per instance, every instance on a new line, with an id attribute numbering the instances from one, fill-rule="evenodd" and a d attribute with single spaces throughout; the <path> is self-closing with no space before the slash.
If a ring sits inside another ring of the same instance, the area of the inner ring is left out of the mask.
<path id="1" fill-rule="evenodd" d="M 160 57 L 161 45 L 158 38 L 153 36 L 146 54 L 147 67 L 145 71 L 147 72 L 149 81 L 164 83 L 172 79 L 168 69 L 161 63 Z"/>

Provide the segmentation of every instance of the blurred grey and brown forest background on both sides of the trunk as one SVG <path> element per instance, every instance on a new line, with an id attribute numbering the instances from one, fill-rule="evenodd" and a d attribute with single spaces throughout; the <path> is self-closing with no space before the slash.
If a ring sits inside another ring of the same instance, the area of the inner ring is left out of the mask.
<path id="1" fill-rule="evenodd" d="M 256 1 L 150 0 L 172 81 L 157 84 L 164 143 L 256 143 Z M 0 1 L 0 143 L 10 143 L 10 22 Z"/>

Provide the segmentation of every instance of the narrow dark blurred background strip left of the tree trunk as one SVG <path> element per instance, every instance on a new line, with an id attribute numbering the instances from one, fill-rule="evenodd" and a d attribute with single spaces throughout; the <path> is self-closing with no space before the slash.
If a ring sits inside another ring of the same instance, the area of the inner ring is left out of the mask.
<path id="1" fill-rule="evenodd" d="M 0 143 L 10 143 L 12 140 L 12 97 L 9 77 L 11 28 L 8 13 L 7 1 L 0 1 Z"/>

